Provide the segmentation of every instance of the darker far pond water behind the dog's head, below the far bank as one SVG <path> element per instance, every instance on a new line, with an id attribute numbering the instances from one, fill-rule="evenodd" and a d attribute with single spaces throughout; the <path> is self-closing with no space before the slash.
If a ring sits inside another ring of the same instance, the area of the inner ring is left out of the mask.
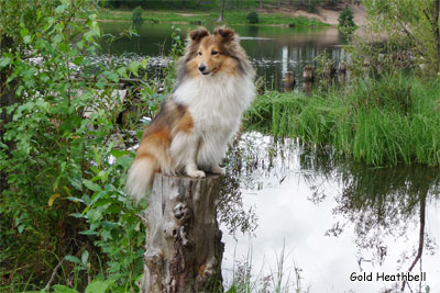
<path id="1" fill-rule="evenodd" d="M 131 26 L 131 23 L 101 23 L 105 34 L 118 35 Z M 196 25 L 142 24 L 138 26 L 138 36 L 123 36 L 114 40 L 110 46 L 101 45 L 105 52 L 121 55 L 131 53 L 148 57 L 155 67 L 166 66 L 166 56 L 172 46 L 172 34 L 186 38 Z M 207 26 L 212 31 L 213 26 Z M 241 44 L 252 59 L 258 77 L 263 77 L 271 89 L 283 88 L 286 71 L 293 71 L 297 84 L 302 80 L 302 68 L 314 64 L 314 59 L 323 50 L 338 64 L 345 58 L 343 40 L 334 27 L 289 29 L 282 26 L 232 26 L 241 36 Z M 177 31 L 176 31 L 177 30 Z M 152 70 L 154 71 L 154 70 Z M 154 72 L 157 72 L 154 71 Z"/>

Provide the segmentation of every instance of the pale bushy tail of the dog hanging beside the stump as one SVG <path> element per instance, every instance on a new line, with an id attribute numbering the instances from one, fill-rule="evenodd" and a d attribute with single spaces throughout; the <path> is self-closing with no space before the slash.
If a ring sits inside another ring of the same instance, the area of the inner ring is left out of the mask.
<path id="1" fill-rule="evenodd" d="M 157 167 L 157 160 L 150 155 L 138 156 L 134 159 L 127 177 L 125 190 L 135 201 L 139 202 L 153 188 Z"/>

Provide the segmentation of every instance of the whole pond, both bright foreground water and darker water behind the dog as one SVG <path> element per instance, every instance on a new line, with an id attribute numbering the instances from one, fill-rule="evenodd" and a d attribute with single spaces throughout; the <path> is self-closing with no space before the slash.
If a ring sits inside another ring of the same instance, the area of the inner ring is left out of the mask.
<path id="1" fill-rule="evenodd" d="M 129 26 L 101 24 L 112 34 Z M 195 27 L 174 26 L 183 37 Z M 282 89 L 288 70 L 300 80 L 302 67 L 322 50 L 337 63 L 346 57 L 334 27 L 233 29 L 257 75 L 274 89 Z M 169 24 L 144 24 L 139 36 L 102 46 L 110 54 L 147 56 L 161 68 L 173 32 Z M 276 292 L 394 292 L 403 288 L 397 275 L 408 270 L 426 279 L 406 283 L 406 292 L 440 288 L 438 169 L 372 168 L 340 159 L 332 149 L 260 133 L 242 135 L 227 169 L 220 212 L 227 288 L 249 277 L 248 292 L 274 292 L 274 283 L 284 290 Z M 370 275 L 372 281 L 351 280 Z"/>

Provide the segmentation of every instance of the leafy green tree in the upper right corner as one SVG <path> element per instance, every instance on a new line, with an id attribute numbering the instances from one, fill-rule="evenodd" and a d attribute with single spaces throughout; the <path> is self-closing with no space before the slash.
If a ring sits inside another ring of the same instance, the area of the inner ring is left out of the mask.
<path id="1" fill-rule="evenodd" d="M 440 0 L 363 1 L 374 32 L 407 42 L 420 63 L 440 70 Z"/>

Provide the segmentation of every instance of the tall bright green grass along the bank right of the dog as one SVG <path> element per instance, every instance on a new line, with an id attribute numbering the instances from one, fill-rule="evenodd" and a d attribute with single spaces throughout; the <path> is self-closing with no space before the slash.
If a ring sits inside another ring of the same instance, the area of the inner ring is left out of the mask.
<path id="1" fill-rule="evenodd" d="M 248 114 L 249 128 L 331 145 L 370 165 L 440 165 L 440 80 L 394 74 L 344 91 L 268 92 Z"/>

